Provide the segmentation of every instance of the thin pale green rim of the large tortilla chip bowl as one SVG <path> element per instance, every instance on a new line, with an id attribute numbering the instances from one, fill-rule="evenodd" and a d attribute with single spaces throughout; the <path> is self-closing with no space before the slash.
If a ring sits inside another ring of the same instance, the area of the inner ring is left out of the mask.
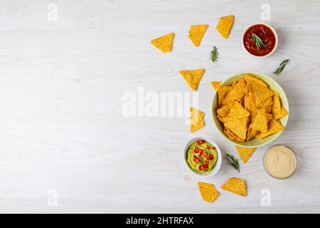
<path id="1" fill-rule="evenodd" d="M 233 77 L 238 76 L 238 75 L 240 75 L 240 74 L 243 75 L 243 74 L 245 74 L 245 73 L 252 74 L 253 76 L 255 76 L 256 74 L 260 74 L 260 75 L 266 76 L 267 78 L 271 78 L 270 76 L 267 76 L 265 73 L 259 73 L 259 72 L 255 72 L 255 71 L 245 71 L 245 72 L 235 73 L 233 76 L 230 76 L 229 78 L 233 78 Z M 229 78 L 227 78 L 225 81 L 228 81 Z M 290 111 L 289 111 L 289 100 L 288 100 L 288 98 L 287 98 L 286 93 L 284 93 L 283 88 L 279 85 L 279 83 L 277 83 L 277 81 L 275 81 L 273 78 L 271 78 L 271 79 L 272 79 L 272 81 L 274 81 L 274 83 L 277 84 L 277 86 L 279 86 L 280 90 L 282 90 L 282 93 L 284 94 L 284 98 L 287 100 L 287 103 L 288 103 L 288 107 L 287 107 L 288 115 L 287 115 L 287 122 L 286 122 L 285 125 L 284 125 L 284 127 L 285 127 L 285 126 L 287 125 L 288 121 L 289 121 L 289 112 L 290 112 Z M 223 82 L 221 83 L 221 85 L 223 85 L 223 83 L 225 83 L 225 81 L 223 81 Z M 211 119 L 213 120 L 213 123 L 215 123 L 214 116 L 213 116 L 213 101 L 215 100 L 215 96 L 216 96 L 216 95 L 217 95 L 217 91 L 215 90 L 215 93 L 214 93 L 213 98 L 212 98 L 212 100 L 211 100 Z M 214 125 L 215 125 L 215 124 L 214 124 Z M 217 125 L 215 125 L 215 129 L 217 129 L 218 132 L 220 133 Z M 233 143 L 233 145 L 238 145 L 238 146 L 240 146 L 240 147 L 254 148 L 254 147 L 262 147 L 262 146 L 265 146 L 265 145 L 269 144 L 270 142 L 273 142 L 273 141 L 276 140 L 283 132 L 284 132 L 284 131 L 282 130 L 282 131 L 280 131 L 279 133 L 274 133 L 275 135 L 277 135 L 277 137 L 273 138 L 273 139 L 270 140 L 269 142 L 264 142 L 264 143 L 262 143 L 261 145 L 258 145 L 258 146 L 256 146 L 256 145 L 241 145 L 241 144 L 239 144 L 239 143 L 236 142 L 236 141 L 230 140 L 230 138 L 228 138 L 228 137 L 227 137 L 226 135 L 224 135 L 224 134 L 220 134 L 220 135 L 222 135 L 223 138 L 225 138 L 228 142 Z"/>

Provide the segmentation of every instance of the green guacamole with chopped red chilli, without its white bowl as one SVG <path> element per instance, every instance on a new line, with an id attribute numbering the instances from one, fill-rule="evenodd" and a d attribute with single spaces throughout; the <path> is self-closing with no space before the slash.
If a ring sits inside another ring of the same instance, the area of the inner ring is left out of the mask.
<path id="1" fill-rule="evenodd" d="M 211 172 L 218 159 L 215 147 L 206 140 L 196 140 L 188 147 L 187 162 L 196 172 Z"/>

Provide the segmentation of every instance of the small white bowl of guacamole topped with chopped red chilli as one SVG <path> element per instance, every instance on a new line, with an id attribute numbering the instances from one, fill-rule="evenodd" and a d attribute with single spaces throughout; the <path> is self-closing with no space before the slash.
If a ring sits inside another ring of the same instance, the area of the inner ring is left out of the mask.
<path id="1" fill-rule="evenodd" d="M 222 163 L 218 145 L 206 137 L 189 140 L 183 148 L 183 158 L 188 169 L 201 176 L 215 175 Z"/>

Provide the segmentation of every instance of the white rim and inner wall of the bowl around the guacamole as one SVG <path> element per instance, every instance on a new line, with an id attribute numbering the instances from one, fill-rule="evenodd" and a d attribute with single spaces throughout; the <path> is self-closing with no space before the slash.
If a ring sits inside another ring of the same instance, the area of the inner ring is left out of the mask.
<path id="1" fill-rule="evenodd" d="M 213 167 L 213 169 L 211 170 L 210 173 L 196 172 L 196 171 L 192 170 L 191 167 L 188 165 L 186 153 L 187 153 L 188 147 L 191 145 L 191 143 L 196 141 L 196 140 L 206 140 L 207 142 L 210 142 L 210 144 L 214 145 L 215 150 L 217 150 L 218 160 L 215 163 L 215 167 Z M 220 170 L 220 167 L 221 167 L 221 164 L 222 164 L 222 155 L 221 155 L 221 151 L 220 151 L 219 146 L 213 140 L 210 140 L 210 138 L 207 138 L 207 137 L 204 137 L 204 136 L 202 136 L 202 137 L 199 136 L 199 137 L 196 137 L 196 138 L 191 138 L 190 140 L 188 140 L 188 142 L 186 142 L 186 145 L 184 145 L 184 147 L 183 147 L 183 160 L 184 160 L 186 166 L 188 167 L 188 170 L 193 172 L 193 174 L 200 175 L 200 176 L 203 176 L 203 177 L 210 177 L 210 176 L 216 175 L 218 173 L 218 171 Z"/>

